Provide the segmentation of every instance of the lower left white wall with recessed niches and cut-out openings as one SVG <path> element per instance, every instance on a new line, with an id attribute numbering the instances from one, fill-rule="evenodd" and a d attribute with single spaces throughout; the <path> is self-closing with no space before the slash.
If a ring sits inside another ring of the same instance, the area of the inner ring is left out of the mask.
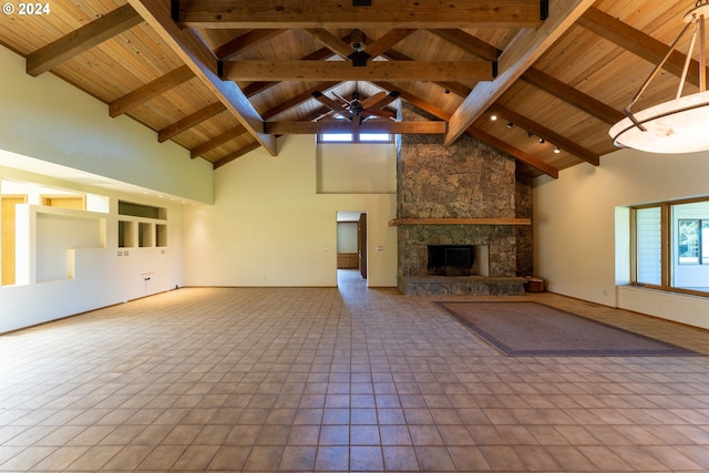
<path id="1" fill-rule="evenodd" d="M 1 179 L 92 192 L 107 196 L 111 205 L 105 214 L 19 206 L 18 225 L 29 236 L 18 241 L 18 284 L 0 286 L 0 333 L 183 285 L 182 205 L 7 167 L 0 167 Z M 165 207 L 167 219 L 161 223 L 167 225 L 167 247 L 119 248 L 119 218 L 133 218 L 119 216 L 119 199 Z"/>

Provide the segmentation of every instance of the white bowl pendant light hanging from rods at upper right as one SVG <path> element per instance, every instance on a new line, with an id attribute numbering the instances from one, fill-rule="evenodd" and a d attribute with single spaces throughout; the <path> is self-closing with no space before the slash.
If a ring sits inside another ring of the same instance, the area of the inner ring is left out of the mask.
<path id="1" fill-rule="evenodd" d="M 697 0 L 685 14 L 685 28 L 667 54 L 645 81 L 633 101 L 625 107 L 627 115 L 610 127 L 608 134 L 618 147 L 631 147 L 650 153 L 693 153 L 709 150 L 709 91 L 707 91 L 705 61 L 705 17 L 709 16 L 709 0 Z M 680 38 L 693 25 L 687 60 L 674 100 L 639 112 L 630 109 L 659 73 Z M 695 45 L 699 43 L 699 92 L 682 96 L 682 88 L 691 62 Z"/>

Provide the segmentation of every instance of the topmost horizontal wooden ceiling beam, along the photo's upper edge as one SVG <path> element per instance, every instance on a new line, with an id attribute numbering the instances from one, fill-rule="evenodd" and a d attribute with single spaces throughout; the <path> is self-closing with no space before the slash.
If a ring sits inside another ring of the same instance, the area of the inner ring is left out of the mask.
<path id="1" fill-rule="evenodd" d="M 182 0 L 177 22 L 188 28 L 537 28 L 540 0 Z"/>

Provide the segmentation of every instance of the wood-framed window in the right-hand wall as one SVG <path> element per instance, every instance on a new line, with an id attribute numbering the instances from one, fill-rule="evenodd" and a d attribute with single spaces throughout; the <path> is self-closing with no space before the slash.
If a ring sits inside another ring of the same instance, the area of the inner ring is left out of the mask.
<path id="1" fill-rule="evenodd" d="M 709 199 L 631 208 L 631 284 L 709 296 Z"/>

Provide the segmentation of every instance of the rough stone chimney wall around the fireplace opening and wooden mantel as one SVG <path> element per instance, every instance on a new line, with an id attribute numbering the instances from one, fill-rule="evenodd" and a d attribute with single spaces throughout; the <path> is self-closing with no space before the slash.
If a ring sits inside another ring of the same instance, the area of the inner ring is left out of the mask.
<path id="1" fill-rule="evenodd" d="M 403 121 L 428 120 L 404 106 Z M 531 217 L 531 183 L 515 177 L 513 157 L 467 135 L 443 146 L 442 135 L 398 141 L 399 218 Z M 489 245 L 490 277 L 531 275 L 531 228 L 512 225 L 401 225 L 399 288 L 425 277 L 427 245 Z"/>

